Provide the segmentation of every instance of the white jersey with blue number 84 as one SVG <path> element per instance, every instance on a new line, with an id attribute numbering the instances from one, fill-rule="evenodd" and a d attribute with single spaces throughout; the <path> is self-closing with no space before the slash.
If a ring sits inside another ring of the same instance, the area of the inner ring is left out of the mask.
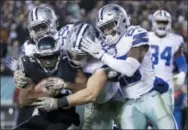
<path id="1" fill-rule="evenodd" d="M 154 32 L 149 32 L 149 40 L 156 76 L 167 82 L 172 81 L 174 54 L 183 44 L 183 38 L 173 33 L 168 33 L 164 38 L 159 38 Z"/>

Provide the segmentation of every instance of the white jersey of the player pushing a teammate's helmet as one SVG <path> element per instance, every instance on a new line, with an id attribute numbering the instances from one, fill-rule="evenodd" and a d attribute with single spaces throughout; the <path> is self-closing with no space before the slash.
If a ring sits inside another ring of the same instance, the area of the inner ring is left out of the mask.
<path id="1" fill-rule="evenodd" d="M 117 59 L 126 59 L 126 55 L 133 47 L 148 45 L 148 32 L 139 26 L 130 26 L 112 49 L 105 49 Z M 104 48 L 108 45 L 103 45 Z M 121 75 L 119 82 L 124 97 L 138 98 L 153 88 L 155 73 L 152 69 L 152 55 L 148 51 L 141 63 L 140 68 L 132 77 Z"/>

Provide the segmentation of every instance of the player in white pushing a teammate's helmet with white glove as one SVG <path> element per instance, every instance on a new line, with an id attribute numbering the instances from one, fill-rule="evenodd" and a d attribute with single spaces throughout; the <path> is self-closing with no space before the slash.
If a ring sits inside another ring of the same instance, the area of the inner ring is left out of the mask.
<path id="1" fill-rule="evenodd" d="M 155 77 L 152 69 L 148 32 L 130 26 L 126 11 L 116 4 L 99 10 L 97 26 L 106 43 L 83 38 L 81 49 L 120 74 L 118 81 L 127 99 L 120 115 L 121 128 L 145 129 L 149 119 L 157 129 L 175 129 L 172 114 L 161 100 L 168 84 Z"/>

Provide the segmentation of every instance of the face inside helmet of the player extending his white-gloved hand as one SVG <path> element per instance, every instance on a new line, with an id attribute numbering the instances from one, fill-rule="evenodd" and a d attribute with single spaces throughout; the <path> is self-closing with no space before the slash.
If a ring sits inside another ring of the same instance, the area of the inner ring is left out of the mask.
<path id="1" fill-rule="evenodd" d="M 105 35 L 112 35 L 114 36 L 116 34 L 116 25 L 117 23 L 115 21 L 110 21 L 106 23 L 105 25 L 100 27 L 100 30 L 105 34 Z"/>

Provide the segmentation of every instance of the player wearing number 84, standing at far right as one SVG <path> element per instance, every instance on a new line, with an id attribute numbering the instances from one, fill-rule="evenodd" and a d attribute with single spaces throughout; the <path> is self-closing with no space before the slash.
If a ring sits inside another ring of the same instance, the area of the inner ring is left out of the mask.
<path id="1" fill-rule="evenodd" d="M 168 92 L 162 94 L 162 98 L 169 106 L 174 108 L 174 85 L 173 78 L 178 86 L 182 86 L 187 73 L 187 63 L 183 55 L 183 38 L 171 32 L 172 18 L 165 10 L 158 10 L 153 14 L 153 31 L 149 32 L 153 67 L 156 76 L 164 79 L 169 84 Z M 173 77 L 174 66 L 179 73 Z"/>

